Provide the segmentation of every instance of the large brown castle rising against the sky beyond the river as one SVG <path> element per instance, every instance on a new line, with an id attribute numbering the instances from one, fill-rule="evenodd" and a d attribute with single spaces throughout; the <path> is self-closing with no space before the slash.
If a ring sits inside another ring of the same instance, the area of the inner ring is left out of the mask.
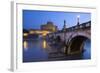
<path id="1" fill-rule="evenodd" d="M 56 32 L 57 26 L 53 24 L 53 22 L 48 21 L 47 24 L 41 25 L 41 30 L 47 30 L 50 32 Z"/>

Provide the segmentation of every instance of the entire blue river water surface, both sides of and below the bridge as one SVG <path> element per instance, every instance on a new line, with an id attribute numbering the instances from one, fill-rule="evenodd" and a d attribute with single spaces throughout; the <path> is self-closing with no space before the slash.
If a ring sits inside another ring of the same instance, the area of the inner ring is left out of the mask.
<path id="1" fill-rule="evenodd" d="M 52 47 L 49 46 L 45 39 L 34 39 L 23 41 L 23 62 L 39 62 L 39 61 L 59 61 L 59 60 L 84 60 L 91 59 L 91 42 L 86 40 L 84 42 L 84 52 L 82 55 L 75 56 L 58 56 L 53 55 L 55 58 L 50 58 L 49 51 Z M 58 57 L 58 58 L 56 58 Z"/>

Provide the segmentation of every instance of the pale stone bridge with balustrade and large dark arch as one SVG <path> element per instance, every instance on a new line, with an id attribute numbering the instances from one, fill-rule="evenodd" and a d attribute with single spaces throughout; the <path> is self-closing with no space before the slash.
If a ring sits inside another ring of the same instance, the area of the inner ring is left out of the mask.
<path id="1" fill-rule="evenodd" d="M 87 39 L 91 40 L 91 21 L 48 34 L 48 37 L 52 36 L 54 38 L 60 36 L 62 42 L 66 44 L 67 54 L 81 53 L 83 51 L 84 41 Z"/>

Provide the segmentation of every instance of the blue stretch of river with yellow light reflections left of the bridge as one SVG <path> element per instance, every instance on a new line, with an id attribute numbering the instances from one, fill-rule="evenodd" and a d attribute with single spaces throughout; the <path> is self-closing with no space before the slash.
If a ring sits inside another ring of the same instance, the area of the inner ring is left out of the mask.
<path id="1" fill-rule="evenodd" d="M 27 48 L 27 50 L 26 50 Z M 23 62 L 34 62 L 48 59 L 47 42 L 44 39 L 25 40 L 23 42 Z"/>

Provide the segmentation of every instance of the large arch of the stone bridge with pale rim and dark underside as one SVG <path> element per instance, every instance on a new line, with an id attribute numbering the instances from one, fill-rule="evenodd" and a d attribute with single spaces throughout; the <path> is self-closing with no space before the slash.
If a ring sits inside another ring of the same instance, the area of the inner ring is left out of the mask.
<path id="1" fill-rule="evenodd" d="M 87 33 L 74 33 L 70 36 L 68 41 L 68 54 L 81 53 L 84 49 L 84 42 L 91 40 L 91 35 Z"/>

